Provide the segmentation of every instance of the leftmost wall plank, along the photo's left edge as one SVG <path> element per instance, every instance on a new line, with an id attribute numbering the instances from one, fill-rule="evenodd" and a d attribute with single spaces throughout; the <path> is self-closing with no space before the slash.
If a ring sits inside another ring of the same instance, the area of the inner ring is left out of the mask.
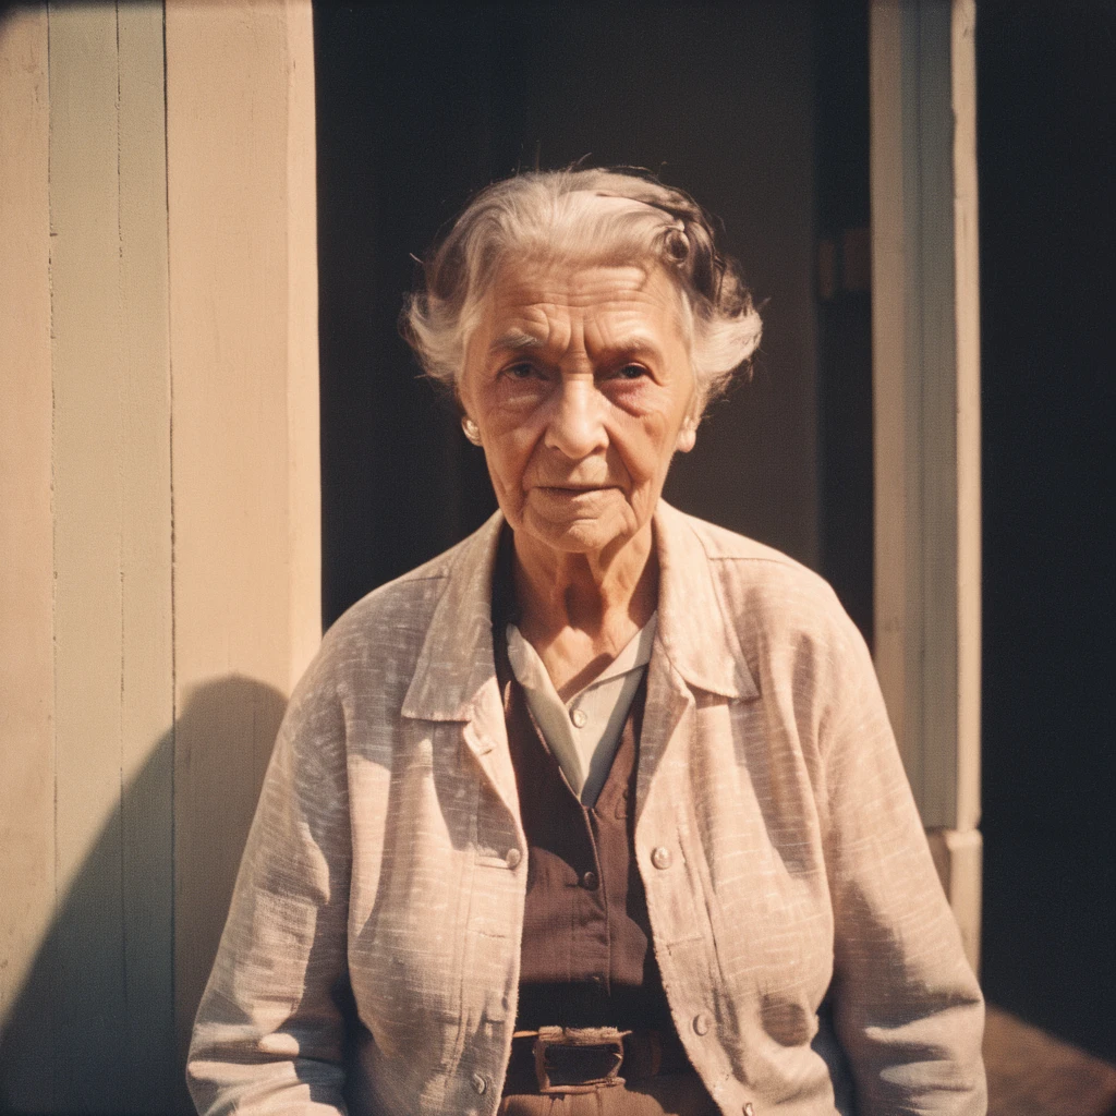
<path id="1" fill-rule="evenodd" d="M 0 1095 L 52 1101 L 50 1019 L 19 1011 L 55 902 L 47 12 L 0 18 Z M 38 1066 L 32 1066 L 38 1062 Z"/>

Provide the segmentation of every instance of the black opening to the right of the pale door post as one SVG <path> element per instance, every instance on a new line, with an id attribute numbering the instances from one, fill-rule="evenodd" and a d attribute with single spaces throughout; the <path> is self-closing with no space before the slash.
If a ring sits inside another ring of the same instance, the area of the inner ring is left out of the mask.
<path id="1" fill-rule="evenodd" d="M 1112 3 L 979 6 L 983 979 L 1116 1060 Z"/>

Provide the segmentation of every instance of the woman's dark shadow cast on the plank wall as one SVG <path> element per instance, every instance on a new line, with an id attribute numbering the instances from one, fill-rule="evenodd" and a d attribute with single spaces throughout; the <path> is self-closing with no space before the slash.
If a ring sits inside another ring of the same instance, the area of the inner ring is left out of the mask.
<path id="1" fill-rule="evenodd" d="M 196 687 L 122 790 L 3 1021 L 0 1113 L 193 1112 L 175 999 L 180 1021 L 192 1018 L 286 705 L 251 679 Z M 187 818 L 173 814 L 176 735 L 179 778 L 185 769 L 195 797 L 204 788 Z M 250 768 L 248 748 L 258 753 Z M 177 987 L 176 949 L 187 959 Z"/>

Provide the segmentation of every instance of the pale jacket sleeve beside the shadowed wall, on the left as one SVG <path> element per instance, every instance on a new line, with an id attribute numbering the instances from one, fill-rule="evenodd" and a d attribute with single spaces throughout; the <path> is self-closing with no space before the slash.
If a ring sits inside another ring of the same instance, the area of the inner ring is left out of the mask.
<path id="1" fill-rule="evenodd" d="M 321 662 L 299 684 L 252 821 L 186 1066 L 202 1116 L 336 1116 L 350 829 L 344 719 Z"/>

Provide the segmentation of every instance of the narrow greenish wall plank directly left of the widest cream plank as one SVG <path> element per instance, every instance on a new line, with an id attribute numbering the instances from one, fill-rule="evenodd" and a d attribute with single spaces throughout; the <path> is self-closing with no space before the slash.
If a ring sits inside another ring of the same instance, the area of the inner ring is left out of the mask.
<path id="1" fill-rule="evenodd" d="M 124 1074 L 132 1110 L 179 1091 L 173 988 L 171 383 L 162 0 L 118 6 L 122 314 L 121 806 Z"/>

